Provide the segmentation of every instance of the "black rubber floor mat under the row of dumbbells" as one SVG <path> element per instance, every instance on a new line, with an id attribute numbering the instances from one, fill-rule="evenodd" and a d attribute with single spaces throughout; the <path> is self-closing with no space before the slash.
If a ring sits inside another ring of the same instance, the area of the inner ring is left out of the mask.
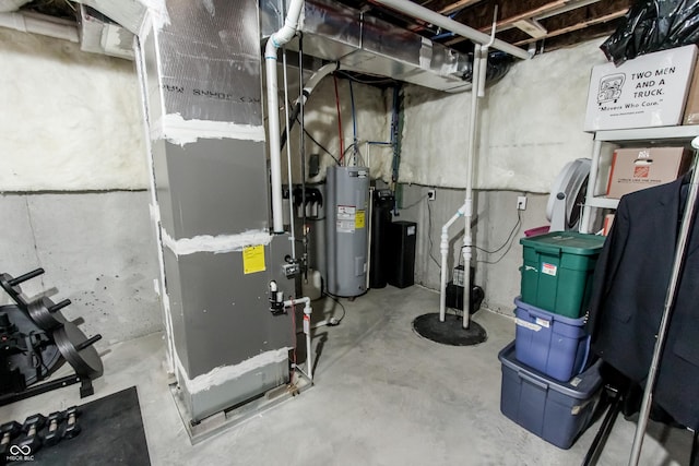
<path id="1" fill-rule="evenodd" d="M 143 430 L 135 386 L 86 403 L 78 408 L 81 432 L 73 439 L 44 447 L 34 462 L 11 465 L 129 465 L 149 466 L 149 446 Z M 48 413 L 43 413 L 48 415 Z"/>

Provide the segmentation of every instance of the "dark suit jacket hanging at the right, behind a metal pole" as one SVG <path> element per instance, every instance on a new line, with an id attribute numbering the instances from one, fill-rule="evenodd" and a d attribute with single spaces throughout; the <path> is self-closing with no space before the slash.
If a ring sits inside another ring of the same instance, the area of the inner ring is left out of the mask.
<path id="1" fill-rule="evenodd" d="M 588 330 L 592 350 L 644 384 L 665 303 L 682 220 L 683 179 L 627 194 L 594 274 Z M 699 428 L 699 227 L 685 266 L 653 399 L 675 420 Z"/>

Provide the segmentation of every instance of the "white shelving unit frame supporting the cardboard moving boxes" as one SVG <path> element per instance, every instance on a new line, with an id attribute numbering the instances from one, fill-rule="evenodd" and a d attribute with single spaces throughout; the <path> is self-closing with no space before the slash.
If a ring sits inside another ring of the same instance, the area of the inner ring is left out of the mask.
<path id="1" fill-rule="evenodd" d="M 657 127 L 657 128 L 633 128 L 629 130 L 606 130 L 594 133 L 594 144 L 592 147 L 592 165 L 590 168 L 590 179 L 588 181 L 588 193 L 585 204 L 582 208 L 582 220 L 580 222 L 581 232 L 594 232 L 590 230 L 590 223 L 594 208 L 616 208 L 618 199 L 595 195 L 595 188 L 600 176 L 600 158 L 602 155 L 602 144 L 614 143 L 620 146 L 643 143 L 644 145 L 659 145 L 667 143 L 686 142 L 689 143 L 699 135 L 699 126 L 683 127 Z"/>

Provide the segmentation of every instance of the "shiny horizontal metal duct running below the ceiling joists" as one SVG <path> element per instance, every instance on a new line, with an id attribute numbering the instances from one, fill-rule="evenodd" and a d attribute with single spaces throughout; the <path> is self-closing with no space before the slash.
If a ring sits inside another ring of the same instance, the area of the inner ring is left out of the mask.
<path id="1" fill-rule="evenodd" d="M 281 25 L 284 1 L 261 0 L 260 9 L 268 37 Z M 303 17 L 305 55 L 433 89 L 471 88 L 463 79 L 471 72 L 465 53 L 330 0 L 306 0 Z M 298 41 L 288 48 L 298 50 Z"/>

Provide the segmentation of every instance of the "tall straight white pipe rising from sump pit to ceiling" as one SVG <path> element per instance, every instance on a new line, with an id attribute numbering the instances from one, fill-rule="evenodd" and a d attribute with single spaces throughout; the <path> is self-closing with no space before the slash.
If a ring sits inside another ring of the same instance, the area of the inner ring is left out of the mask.
<path id="1" fill-rule="evenodd" d="M 463 327 L 469 328 L 471 319 L 471 219 L 473 217 L 473 160 L 476 152 L 476 117 L 478 112 L 478 86 L 481 84 L 481 46 L 473 50 L 473 79 L 471 86 L 471 117 L 469 121 L 469 147 L 466 151 L 466 199 L 464 203 L 465 227 L 463 235 Z"/>

